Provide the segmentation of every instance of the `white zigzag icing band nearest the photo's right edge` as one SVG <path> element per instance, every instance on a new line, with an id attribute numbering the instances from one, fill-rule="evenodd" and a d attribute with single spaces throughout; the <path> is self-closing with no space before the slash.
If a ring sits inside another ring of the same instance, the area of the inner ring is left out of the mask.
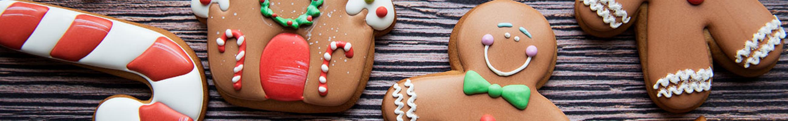
<path id="1" fill-rule="evenodd" d="M 753 34 L 753 39 L 744 42 L 744 48 L 736 52 L 736 63 L 744 61 L 744 68 L 749 68 L 750 64 L 760 64 L 760 59 L 768 56 L 769 52 L 775 50 L 775 46 L 782 44 L 782 38 L 786 38 L 786 31 L 780 24 L 782 23 L 775 16 L 774 20 L 760 27 L 758 32 Z M 758 45 L 760 42 L 764 43 Z"/>

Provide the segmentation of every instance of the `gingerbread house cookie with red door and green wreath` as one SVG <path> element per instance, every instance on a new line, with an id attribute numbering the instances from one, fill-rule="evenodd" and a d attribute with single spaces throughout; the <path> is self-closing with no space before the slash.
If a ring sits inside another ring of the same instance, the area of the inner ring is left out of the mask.
<path id="1" fill-rule="evenodd" d="M 351 108 L 369 79 L 375 36 L 396 19 L 390 0 L 192 0 L 191 8 L 206 19 L 225 101 L 281 112 Z"/>

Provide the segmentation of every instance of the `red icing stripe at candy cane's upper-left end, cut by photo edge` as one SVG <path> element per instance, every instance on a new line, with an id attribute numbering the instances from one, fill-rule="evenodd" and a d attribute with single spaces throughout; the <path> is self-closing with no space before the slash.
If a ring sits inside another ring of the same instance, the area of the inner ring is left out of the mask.
<path id="1" fill-rule="evenodd" d="M 46 6 L 24 2 L 11 4 L 0 15 L 0 45 L 22 49 L 22 45 L 28 41 L 47 11 L 49 8 Z"/>

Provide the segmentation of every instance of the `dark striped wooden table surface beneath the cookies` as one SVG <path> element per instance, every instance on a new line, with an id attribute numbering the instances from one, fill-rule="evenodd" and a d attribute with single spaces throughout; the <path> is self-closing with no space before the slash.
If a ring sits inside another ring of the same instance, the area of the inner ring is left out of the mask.
<path id="1" fill-rule="evenodd" d="M 382 120 L 381 98 L 400 79 L 448 71 L 448 38 L 457 20 L 485 0 L 394 2 L 394 30 L 375 42 L 374 69 L 366 90 L 346 112 L 299 114 L 229 105 L 216 92 L 206 57 L 206 26 L 186 0 L 35 0 L 162 27 L 184 38 L 203 60 L 210 84 L 207 120 Z M 547 17 L 558 39 L 558 62 L 539 91 L 571 120 L 788 120 L 788 51 L 771 72 L 743 78 L 716 66 L 708 100 L 693 112 L 665 112 L 645 92 L 634 32 L 595 38 L 578 27 L 573 0 L 520 1 Z M 788 1 L 761 0 L 788 21 Z M 788 27 L 783 22 L 782 27 Z M 3 29 L 3 28 L 0 28 Z M 70 64 L 0 49 L 0 120 L 90 120 L 106 97 L 128 94 L 147 100 L 137 83 Z"/>

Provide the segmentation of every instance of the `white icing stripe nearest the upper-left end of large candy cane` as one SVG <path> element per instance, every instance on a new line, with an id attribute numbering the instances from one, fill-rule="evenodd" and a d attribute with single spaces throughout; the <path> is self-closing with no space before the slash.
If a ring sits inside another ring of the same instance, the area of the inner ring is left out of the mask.
<path id="1" fill-rule="evenodd" d="M 30 35 L 28 41 L 22 45 L 22 51 L 41 57 L 50 57 L 50 52 L 58 44 L 65 31 L 71 27 L 74 18 L 79 13 L 64 9 L 50 9 L 41 19 L 40 26 Z"/>

